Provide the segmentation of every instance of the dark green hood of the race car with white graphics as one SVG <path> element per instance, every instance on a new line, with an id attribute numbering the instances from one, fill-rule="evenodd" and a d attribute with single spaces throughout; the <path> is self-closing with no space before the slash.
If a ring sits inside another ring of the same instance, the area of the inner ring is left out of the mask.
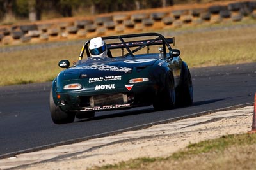
<path id="1" fill-rule="evenodd" d="M 134 69 L 152 66 L 157 59 L 111 60 L 109 62 L 84 63 L 63 71 L 66 80 L 93 78 L 97 76 L 116 76 L 130 74 Z"/>

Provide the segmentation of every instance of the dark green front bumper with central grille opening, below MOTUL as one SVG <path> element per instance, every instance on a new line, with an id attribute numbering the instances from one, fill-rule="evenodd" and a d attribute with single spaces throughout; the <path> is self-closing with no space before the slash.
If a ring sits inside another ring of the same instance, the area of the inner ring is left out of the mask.
<path id="1" fill-rule="evenodd" d="M 75 90 L 56 92 L 56 105 L 63 111 L 103 111 L 134 106 L 147 106 L 156 98 L 156 85 L 134 85 L 127 88 L 100 90 L 100 92 Z"/>

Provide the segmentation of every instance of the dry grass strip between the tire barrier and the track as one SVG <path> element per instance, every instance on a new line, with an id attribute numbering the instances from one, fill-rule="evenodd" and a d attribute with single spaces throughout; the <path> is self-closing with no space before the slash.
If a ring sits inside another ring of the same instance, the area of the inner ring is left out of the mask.
<path id="1" fill-rule="evenodd" d="M 255 24 L 255 20 L 251 20 L 250 23 Z M 241 24 L 243 22 L 237 25 Z M 248 21 L 244 24 L 248 24 Z M 236 27 L 236 25 L 232 26 Z M 179 29 L 171 31 L 175 32 Z M 180 49 L 181 57 L 189 67 L 256 62 L 255 27 L 193 33 L 188 31 L 188 33 L 177 34 L 175 37 L 177 45 L 174 48 Z M 81 46 L 82 44 L 1 53 L 0 86 L 51 81 L 61 71 L 58 62 L 63 59 L 77 60 Z"/>

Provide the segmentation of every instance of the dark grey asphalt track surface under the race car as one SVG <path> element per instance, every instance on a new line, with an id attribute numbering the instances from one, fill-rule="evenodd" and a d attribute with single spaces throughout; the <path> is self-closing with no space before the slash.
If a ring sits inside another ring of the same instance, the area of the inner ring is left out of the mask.
<path id="1" fill-rule="evenodd" d="M 97 112 L 90 120 L 63 125 L 52 123 L 49 113 L 51 82 L 0 87 L 0 158 L 254 102 L 256 63 L 191 69 L 191 76 L 193 106 Z"/>

